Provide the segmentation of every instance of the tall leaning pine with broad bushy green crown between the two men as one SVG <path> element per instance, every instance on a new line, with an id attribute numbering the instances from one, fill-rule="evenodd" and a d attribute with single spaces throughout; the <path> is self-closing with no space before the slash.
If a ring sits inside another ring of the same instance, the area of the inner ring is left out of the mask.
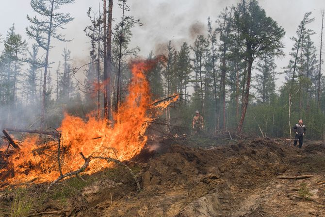
<path id="1" fill-rule="evenodd" d="M 238 123 L 237 131 L 241 132 L 248 106 L 251 71 L 255 59 L 263 54 L 282 56 L 284 29 L 279 27 L 265 11 L 260 8 L 257 0 L 250 0 L 246 5 L 245 0 L 235 8 L 234 22 L 240 31 L 244 59 L 247 61 L 246 91 L 243 101 L 242 116 Z"/>

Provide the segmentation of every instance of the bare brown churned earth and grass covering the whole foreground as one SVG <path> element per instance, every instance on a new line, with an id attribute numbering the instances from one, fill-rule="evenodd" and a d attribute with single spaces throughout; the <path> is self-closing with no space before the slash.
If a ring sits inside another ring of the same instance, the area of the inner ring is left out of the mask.
<path id="1" fill-rule="evenodd" d="M 49 192 L 49 184 L 2 188 L 0 216 L 325 216 L 325 143 L 307 141 L 302 149 L 268 139 L 176 143 L 156 142 L 129 163 L 140 192 L 116 166 L 66 179 Z M 306 174 L 314 176 L 277 178 Z"/>

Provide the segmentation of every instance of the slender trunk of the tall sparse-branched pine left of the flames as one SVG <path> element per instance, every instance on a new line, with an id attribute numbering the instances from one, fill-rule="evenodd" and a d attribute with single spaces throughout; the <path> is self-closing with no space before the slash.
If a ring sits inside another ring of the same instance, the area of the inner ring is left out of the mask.
<path id="1" fill-rule="evenodd" d="M 49 19 L 49 33 L 48 33 L 48 43 L 46 47 L 46 57 L 45 57 L 45 68 L 44 68 L 44 77 L 43 77 L 43 94 L 42 94 L 42 114 L 41 114 L 41 130 L 45 129 L 45 114 L 46 114 L 46 79 L 48 72 L 48 64 L 49 64 L 49 44 L 51 40 L 52 33 L 52 20 L 53 20 L 53 5 L 54 0 L 51 0 L 51 16 Z"/>

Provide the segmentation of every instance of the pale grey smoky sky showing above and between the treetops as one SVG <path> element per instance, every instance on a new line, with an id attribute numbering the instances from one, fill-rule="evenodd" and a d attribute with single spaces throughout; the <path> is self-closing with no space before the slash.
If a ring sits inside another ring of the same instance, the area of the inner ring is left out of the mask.
<path id="1" fill-rule="evenodd" d="M 26 15 L 34 15 L 30 6 L 30 0 L 0 0 L 0 33 L 2 38 L 15 23 L 16 32 L 27 39 L 25 28 L 29 25 Z M 186 41 L 192 43 L 196 33 L 206 34 L 207 18 L 215 20 L 226 6 L 237 4 L 239 0 L 129 0 L 131 6 L 130 15 L 140 18 L 144 23 L 142 27 L 133 29 L 132 46 L 139 46 L 140 55 L 146 57 L 150 50 L 156 54 L 162 52 L 169 40 L 173 41 L 176 49 Z M 316 32 L 312 36 L 315 46 L 319 49 L 321 29 L 321 9 L 325 9 L 325 0 L 259 0 L 260 6 L 266 11 L 267 16 L 272 17 L 281 25 L 286 35 L 283 42 L 286 46 L 283 59 L 277 59 L 278 71 L 288 65 L 289 52 L 292 48 L 290 37 L 295 31 L 306 12 L 311 11 L 315 21 L 309 24 L 309 28 Z M 61 9 L 62 12 L 69 12 L 74 21 L 66 26 L 62 33 L 73 41 L 69 43 L 53 41 L 55 48 L 50 51 L 49 58 L 52 62 L 62 59 L 63 48 L 71 50 L 74 66 L 81 66 L 88 61 L 90 44 L 83 29 L 89 25 L 86 12 L 89 6 L 97 10 L 101 0 L 76 0 L 74 4 L 67 5 Z M 120 9 L 114 0 L 113 17 L 119 20 Z M 31 47 L 33 41 L 28 40 Z M 0 50 L 3 45 L 0 43 Z M 53 72 L 56 65 L 51 69 Z M 283 78 L 279 79 L 280 81 Z"/>

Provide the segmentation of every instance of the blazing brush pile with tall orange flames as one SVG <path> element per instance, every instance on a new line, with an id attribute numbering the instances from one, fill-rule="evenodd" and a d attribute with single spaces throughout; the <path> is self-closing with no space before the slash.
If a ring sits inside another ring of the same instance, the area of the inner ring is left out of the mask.
<path id="1" fill-rule="evenodd" d="M 148 67 L 150 64 L 145 62 L 132 65 L 129 95 L 113 114 L 113 123 L 93 116 L 85 121 L 66 114 L 56 136 L 46 142 L 39 144 L 38 135 L 28 136 L 18 143 L 19 148 L 0 150 L 0 184 L 54 184 L 81 172 L 95 173 L 110 167 L 110 162 L 120 163 L 138 154 L 146 144 L 150 121 L 178 100 L 178 95 L 159 103 L 150 100 L 145 75 Z"/>

